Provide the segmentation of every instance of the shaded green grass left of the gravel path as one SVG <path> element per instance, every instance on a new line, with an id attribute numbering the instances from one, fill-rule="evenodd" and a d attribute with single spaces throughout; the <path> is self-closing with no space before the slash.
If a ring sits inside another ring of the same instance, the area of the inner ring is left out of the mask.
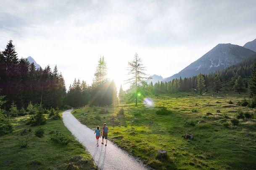
<path id="1" fill-rule="evenodd" d="M 85 151 L 82 144 L 74 139 L 71 132 L 64 126 L 62 120 L 48 119 L 47 124 L 31 127 L 25 125 L 29 116 L 13 118 L 15 131 L 12 134 L 0 137 L 0 169 L 1 170 L 45 170 L 66 169 L 67 165 L 83 167 L 84 170 L 97 169 L 91 155 Z M 41 127 L 45 130 L 42 138 L 35 137 L 34 131 Z M 28 146 L 21 147 L 21 137 L 18 136 L 21 129 L 32 129 Z M 68 135 L 72 142 L 61 145 L 53 142 L 50 131 L 57 130 Z"/>

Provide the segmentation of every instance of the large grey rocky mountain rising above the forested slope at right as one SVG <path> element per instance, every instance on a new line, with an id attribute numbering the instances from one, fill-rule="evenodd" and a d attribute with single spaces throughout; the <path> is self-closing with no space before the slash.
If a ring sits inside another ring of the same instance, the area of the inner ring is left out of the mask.
<path id="1" fill-rule="evenodd" d="M 208 74 L 210 72 L 223 70 L 234 64 L 238 64 L 255 53 L 256 52 L 246 49 L 243 46 L 218 44 L 185 69 L 171 77 L 165 78 L 164 81 L 168 82 L 179 77 L 191 77 L 193 75 L 198 75 L 200 72 L 202 74 Z"/>

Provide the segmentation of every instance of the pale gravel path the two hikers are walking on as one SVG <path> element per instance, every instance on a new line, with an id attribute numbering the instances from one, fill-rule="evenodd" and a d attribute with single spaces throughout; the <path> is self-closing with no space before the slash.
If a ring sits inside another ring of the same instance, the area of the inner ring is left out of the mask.
<path id="1" fill-rule="evenodd" d="M 120 149 L 112 142 L 108 141 L 108 145 L 105 147 L 106 140 L 104 139 L 104 145 L 96 145 L 96 138 L 94 131 L 87 126 L 81 124 L 72 114 L 72 110 L 64 111 L 62 114 L 63 122 L 65 126 L 71 131 L 71 133 L 82 143 L 86 149 L 90 152 L 94 162 L 100 170 L 146 170 L 147 167 L 129 155 L 124 150 Z M 100 129 L 102 127 L 100 126 Z M 99 139 L 99 142 L 102 138 Z"/>

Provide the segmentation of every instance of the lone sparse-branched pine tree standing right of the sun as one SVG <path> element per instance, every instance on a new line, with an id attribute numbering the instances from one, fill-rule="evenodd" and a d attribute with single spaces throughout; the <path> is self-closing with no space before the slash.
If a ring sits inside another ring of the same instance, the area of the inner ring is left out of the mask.
<path id="1" fill-rule="evenodd" d="M 143 85 L 147 84 L 145 80 L 150 77 L 146 76 L 145 67 L 143 67 L 142 60 L 137 53 L 135 54 L 133 61 L 128 62 L 128 66 L 128 75 L 132 75 L 132 77 L 127 80 L 127 83 L 131 83 L 129 90 L 130 99 L 132 100 L 135 98 L 135 106 L 138 106 L 138 96 L 141 96 L 141 93 L 146 91 L 146 89 L 143 88 Z"/>

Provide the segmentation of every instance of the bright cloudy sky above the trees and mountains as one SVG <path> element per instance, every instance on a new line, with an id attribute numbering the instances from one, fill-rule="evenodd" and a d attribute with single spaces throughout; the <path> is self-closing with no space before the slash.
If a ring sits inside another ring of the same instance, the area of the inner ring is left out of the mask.
<path id="1" fill-rule="evenodd" d="M 135 53 L 148 75 L 170 77 L 219 43 L 256 39 L 256 0 L 0 0 L 0 50 L 57 65 L 66 87 L 92 83 L 104 56 L 117 88 Z"/>

